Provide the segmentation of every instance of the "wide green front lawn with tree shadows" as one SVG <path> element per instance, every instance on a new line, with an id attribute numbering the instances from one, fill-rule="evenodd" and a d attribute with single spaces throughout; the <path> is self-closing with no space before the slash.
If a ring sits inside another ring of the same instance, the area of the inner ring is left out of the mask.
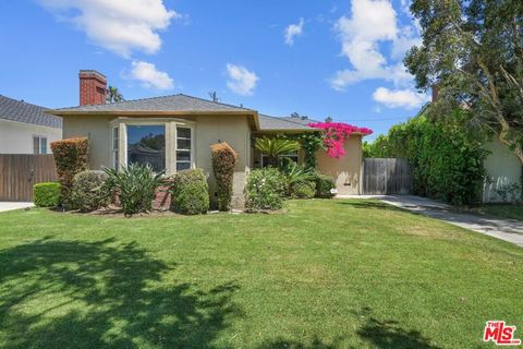
<path id="1" fill-rule="evenodd" d="M 477 348 L 523 249 L 374 201 L 285 214 L 0 214 L 0 348 Z"/>

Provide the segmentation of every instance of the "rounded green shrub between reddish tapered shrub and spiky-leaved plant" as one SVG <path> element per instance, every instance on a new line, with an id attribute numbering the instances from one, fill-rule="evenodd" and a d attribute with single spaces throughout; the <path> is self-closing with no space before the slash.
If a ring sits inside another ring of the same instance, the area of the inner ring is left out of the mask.
<path id="1" fill-rule="evenodd" d="M 71 191 L 71 207 L 92 212 L 109 205 L 109 193 L 105 188 L 108 176 L 104 171 L 87 170 L 74 176 Z"/>

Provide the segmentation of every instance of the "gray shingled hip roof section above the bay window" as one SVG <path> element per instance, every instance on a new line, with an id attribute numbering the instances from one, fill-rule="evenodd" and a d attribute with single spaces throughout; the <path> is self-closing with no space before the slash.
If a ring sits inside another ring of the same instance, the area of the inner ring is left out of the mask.
<path id="1" fill-rule="evenodd" d="M 58 112 L 88 112 L 88 111 L 248 111 L 247 108 L 235 107 L 186 95 L 172 95 L 144 99 L 125 100 L 106 105 L 80 106 L 73 108 L 56 109 Z"/>

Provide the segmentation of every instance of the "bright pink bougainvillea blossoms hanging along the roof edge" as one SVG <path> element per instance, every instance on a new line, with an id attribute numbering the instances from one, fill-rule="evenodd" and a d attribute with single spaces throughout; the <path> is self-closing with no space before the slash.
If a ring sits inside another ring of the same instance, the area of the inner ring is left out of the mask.
<path id="1" fill-rule="evenodd" d="M 345 155 L 343 143 L 353 134 L 369 135 L 373 130 L 344 122 L 313 122 L 309 128 L 324 130 L 324 144 L 330 157 L 339 159 Z"/>

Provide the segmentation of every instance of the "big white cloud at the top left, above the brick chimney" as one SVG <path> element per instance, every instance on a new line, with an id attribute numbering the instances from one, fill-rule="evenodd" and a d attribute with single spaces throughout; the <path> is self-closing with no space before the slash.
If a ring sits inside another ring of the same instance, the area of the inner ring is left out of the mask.
<path id="1" fill-rule="evenodd" d="M 162 0 L 39 0 L 60 19 L 72 22 L 95 44 L 123 57 L 132 51 L 156 53 L 161 47 L 158 31 L 171 19 Z"/>

